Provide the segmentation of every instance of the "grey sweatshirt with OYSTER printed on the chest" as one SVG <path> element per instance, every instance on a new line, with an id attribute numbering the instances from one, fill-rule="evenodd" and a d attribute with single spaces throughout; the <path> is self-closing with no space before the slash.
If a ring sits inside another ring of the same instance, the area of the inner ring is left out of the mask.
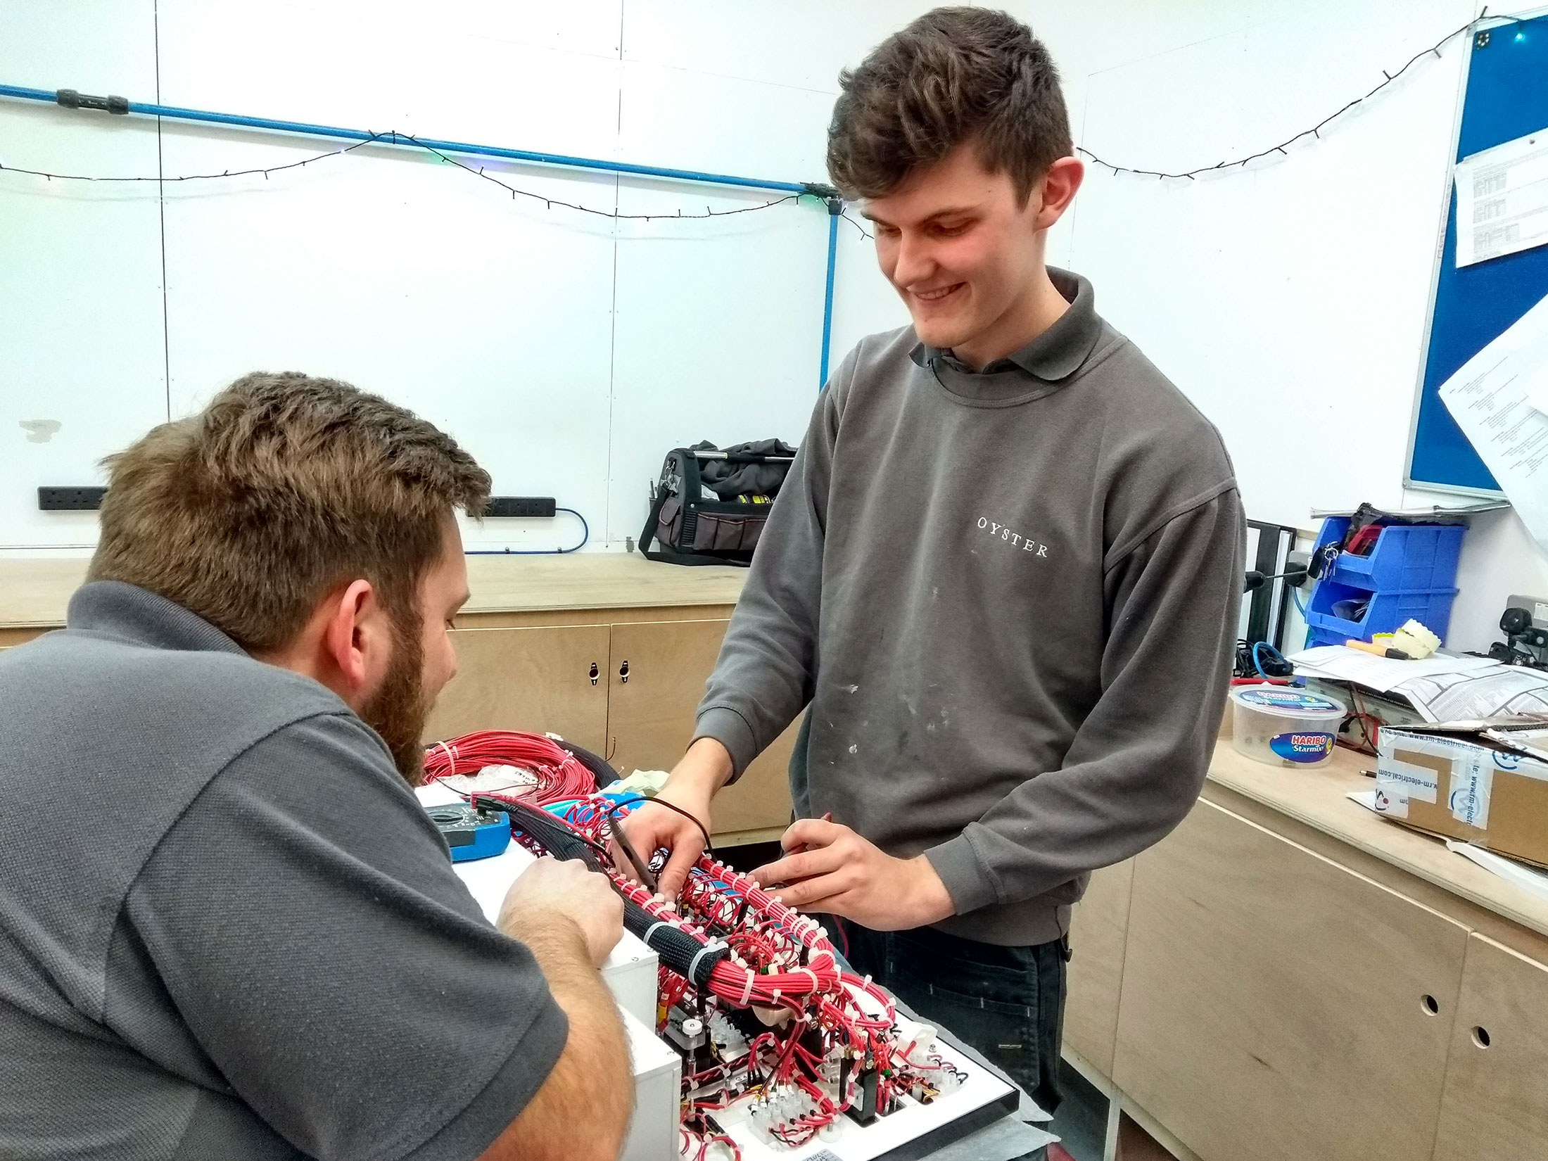
<path id="1" fill-rule="evenodd" d="M 1070 310 L 975 373 L 912 328 L 822 393 L 698 709 L 740 771 L 807 706 L 802 817 L 921 851 L 998 944 L 1059 938 L 1096 867 L 1198 797 L 1245 525 L 1203 415 Z"/>

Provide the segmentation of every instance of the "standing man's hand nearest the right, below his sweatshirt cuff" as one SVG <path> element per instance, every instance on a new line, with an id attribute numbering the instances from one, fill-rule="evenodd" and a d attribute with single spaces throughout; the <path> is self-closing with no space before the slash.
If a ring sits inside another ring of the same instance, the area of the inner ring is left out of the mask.
<path id="1" fill-rule="evenodd" d="M 780 847 L 791 853 L 759 867 L 752 878 L 786 907 L 842 915 L 878 932 L 923 927 L 955 913 L 929 859 L 895 859 L 837 822 L 800 819 L 780 836 Z"/>

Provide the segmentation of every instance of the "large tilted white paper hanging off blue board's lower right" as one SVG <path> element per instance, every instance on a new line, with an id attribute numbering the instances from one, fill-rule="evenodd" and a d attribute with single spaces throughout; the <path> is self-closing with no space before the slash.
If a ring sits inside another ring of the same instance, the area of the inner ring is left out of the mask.
<path id="1" fill-rule="evenodd" d="M 1548 297 L 1474 354 L 1441 402 L 1548 550 Z M 1537 401 L 1534 406 L 1533 401 Z"/>

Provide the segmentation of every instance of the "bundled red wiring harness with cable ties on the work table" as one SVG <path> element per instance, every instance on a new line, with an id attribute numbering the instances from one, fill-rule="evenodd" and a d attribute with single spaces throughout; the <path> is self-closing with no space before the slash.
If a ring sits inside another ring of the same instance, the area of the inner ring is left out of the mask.
<path id="1" fill-rule="evenodd" d="M 545 745 L 546 743 L 546 745 Z M 438 743 L 430 777 L 523 765 L 537 788 L 467 794 L 511 816 L 536 854 L 579 858 L 624 898 L 624 926 L 659 957 L 656 1031 L 683 1056 L 683 1153 L 741 1156 L 715 1115 L 743 1102 L 771 1146 L 799 1147 L 841 1116 L 870 1124 L 906 1101 L 929 1104 L 964 1073 L 935 1051 L 935 1029 L 899 1015 L 870 977 L 844 971 L 827 930 L 712 853 L 667 902 L 613 858 L 616 824 L 642 796 L 571 793 L 577 776 L 553 740 L 477 734 Z M 584 768 L 582 768 L 584 769 Z M 587 774 L 590 777 L 590 774 Z M 450 783 L 446 783 L 450 785 Z M 650 856 L 659 870 L 666 851 Z"/>

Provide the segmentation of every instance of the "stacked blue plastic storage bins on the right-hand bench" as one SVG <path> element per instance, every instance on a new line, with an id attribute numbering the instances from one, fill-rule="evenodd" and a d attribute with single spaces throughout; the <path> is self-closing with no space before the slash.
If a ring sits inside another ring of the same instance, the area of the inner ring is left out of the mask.
<path id="1" fill-rule="evenodd" d="M 1324 520 L 1313 554 L 1342 540 L 1348 526 L 1347 515 Z M 1444 639 L 1466 531 L 1463 525 L 1389 525 L 1370 556 L 1339 553 L 1307 602 L 1307 646 L 1341 646 L 1348 638 L 1368 641 L 1410 618 Z M 1359 621 L 1333 615 L 1333 605 L 1345 599 L 1370 602 Z"/>

